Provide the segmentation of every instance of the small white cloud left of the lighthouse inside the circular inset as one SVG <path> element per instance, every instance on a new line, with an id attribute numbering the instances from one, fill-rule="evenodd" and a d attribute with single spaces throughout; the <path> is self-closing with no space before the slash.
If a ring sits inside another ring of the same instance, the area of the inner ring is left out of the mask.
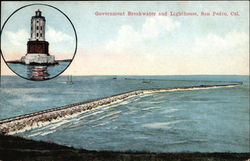
<path id="1" fill-rule="evenodd" d="M 19 29 L 17 32 L 6 31 L 8 42 L 16 46 L 23 46 L 29 38 L 29 33 L 24 29 Z"/>

